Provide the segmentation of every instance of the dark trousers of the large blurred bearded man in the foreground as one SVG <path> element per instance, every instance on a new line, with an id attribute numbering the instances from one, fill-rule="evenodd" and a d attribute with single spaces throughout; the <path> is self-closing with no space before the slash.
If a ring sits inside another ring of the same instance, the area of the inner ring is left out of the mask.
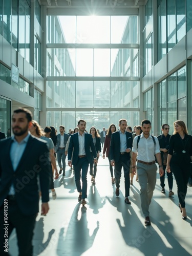
<path id="1" fill-rule="evenodd" d="M 32 256 L 33 255 L 33 230 L 35 227 L 36 215 L 23 215 L 20 212 L 16 200 L 8 201 L 8 223 L 4 221 L 4 205 L 0 208 L 0 255 L 10 255 L 9 252 L 5 252 L 5 242 L 13 230 L 16 228 L 17 245 L 19 249 L 19 256 Z M 4 225 L 7 224 L 7 225 Z M 6 229 L 5 227 L 8 227 Z M 8 249 L 9 251 L 9 249 Z"/>

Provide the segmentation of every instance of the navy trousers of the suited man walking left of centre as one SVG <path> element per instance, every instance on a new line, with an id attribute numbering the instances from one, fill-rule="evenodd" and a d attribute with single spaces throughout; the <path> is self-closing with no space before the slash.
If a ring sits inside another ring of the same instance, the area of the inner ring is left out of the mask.
<path id="1" fill-rule="evenodd" d="M 88 167 L 89 167 L 89 162 L 88 162 L 87 157 L 79 158 L 78 161 L 77 161 L 77 164 L 74 165 L 75 184 L 76 184 L 76 187 L 77 187 L 77 191 L 79 193 L 82 192 L 82 198 L 83 199 L 87 198 Z M 82 169 L 82 173 L 81 173 L 81 169 Z M 80 178 L 82 180 L 82 188 L 81 188 Z"/>

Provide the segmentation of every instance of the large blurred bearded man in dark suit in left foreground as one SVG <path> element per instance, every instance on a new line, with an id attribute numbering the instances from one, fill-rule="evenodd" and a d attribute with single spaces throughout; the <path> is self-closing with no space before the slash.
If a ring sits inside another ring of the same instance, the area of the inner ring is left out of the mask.
<path id="1" fill-rule="evenodd" d="M 10 255 L 8 238 L 16 228 L 19 256 L 32 256 L 39 185 L 41 214 L 49 210 L 49 150 L 45 141 L 28 132 L 31 120 L 29 110 L 15 110 L 12 116 L 14 136 L 0 141 L 0 255 Z"/>

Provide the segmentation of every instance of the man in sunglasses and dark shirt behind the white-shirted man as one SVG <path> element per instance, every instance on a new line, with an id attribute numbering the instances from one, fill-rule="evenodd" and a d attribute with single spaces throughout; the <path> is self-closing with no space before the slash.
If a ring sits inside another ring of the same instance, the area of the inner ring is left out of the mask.
<path id="1" fill-rule="evenodd" d="M 169 148 L 169 139 L 170 135 L 168 134 L 169 132 L 169 125 L 164 123 L 161 126 L 161 131 L 162 134 L 157 136 L 159 140 L 159 145 L 160 145 L 160 151 L 161 151 L 161 159 L 162 159 L 162 164 L 163 164 L 163 170 L 164 170 L 164 175 L 160 177 L 160 185 L 161 185 L 161 193 L 165 193 L 165 169 L 166 169 L 166 160 L 167 160 L 167 153 L 168 153 L 168 148 Z M 172 188 L 173 188 L 173 173 L 166 172 L 167 174 L 167 180 L 168 180 L 168 187 L 169 187 L 169 193 L 168 196 L 171 197 L 174 195 Z"/>

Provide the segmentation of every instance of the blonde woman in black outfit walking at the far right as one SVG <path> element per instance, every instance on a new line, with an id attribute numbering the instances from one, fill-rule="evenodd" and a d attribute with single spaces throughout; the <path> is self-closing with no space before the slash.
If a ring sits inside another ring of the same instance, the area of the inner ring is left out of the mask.
<path id="1" fill-rule="evenodd" d="M 174 173 L 177 182 L 177 193 L 179 208 L 182 219 L 186 220 L 185 197 L 187 193 L 187 182 L 190 175 L 190 162 L 192 161 L 192 137 L 188 135 L 186 125 L 183 121 L 174 122 L 174 133 L 170 136 L 167 157 L 167 172 L 170 169 Z"/>

